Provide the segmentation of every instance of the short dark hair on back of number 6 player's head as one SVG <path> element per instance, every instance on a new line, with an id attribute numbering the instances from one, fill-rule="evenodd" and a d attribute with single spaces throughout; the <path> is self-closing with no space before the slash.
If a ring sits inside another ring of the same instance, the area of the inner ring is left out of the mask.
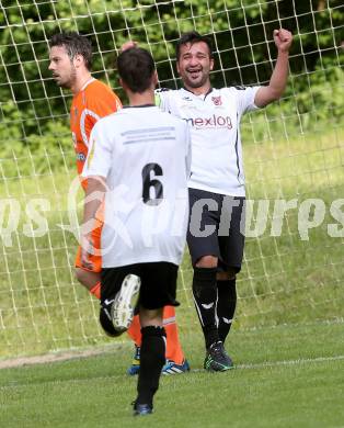
<path id="1" fill-rule="evenodd" d="M 148 50 L 130 47 L 118 55 L 117 69 L 121 79 L 131 92 L 142 93 L 151 85 L 156 66 Z"/>

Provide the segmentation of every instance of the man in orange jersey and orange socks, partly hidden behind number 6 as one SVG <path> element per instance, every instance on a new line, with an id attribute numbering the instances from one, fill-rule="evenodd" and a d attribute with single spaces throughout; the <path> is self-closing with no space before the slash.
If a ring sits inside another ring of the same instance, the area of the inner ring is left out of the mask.
<path id="1" fill-rule="evenodd" d="M 53 78 L 61 88 L 71 90 L 73 98 L 70 109 L 70 128 L 77 156 L 77 169 L 81 174 L 89 150 L 91 131 L 101 117 L 116 112 L 122 108 L 118 97 L 103 82 L 91 76 L 92 45 L 90 41 L 78 33 L 58 33 L 49 41 L 49 70 Z M 87 181 L 81 181 L 83 189 Z M 98 214 L 96 224 L 92 232 L 93 247 L 101 246 L 102 213 Z M 92 269 L 81 263 L 81 248 L 78 248 L 76 259 L 76 275 L 91 294 L 101 296 L 101 268 L 100 255 L 90 255 Z M 163 313 L 163 324 L 167 330 L 167 364 L 164 374 L 182 373 L 190 370 L 181 348 L 177 327 L 175 324 L 175 309 L 167 306 Z M 128 369 L 128 374 L 137 374 L 139 371 L 139 357 L 141 333 L 138 316 L 128 329 L 128 334 L 135 341 L 135 357 Z"/>

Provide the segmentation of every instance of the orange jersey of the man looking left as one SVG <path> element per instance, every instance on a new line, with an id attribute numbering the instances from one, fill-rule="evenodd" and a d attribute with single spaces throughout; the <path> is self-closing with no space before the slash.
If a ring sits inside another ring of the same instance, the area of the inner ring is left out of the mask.
<path id="1" fill-rule="evenodd" d="M 122 108 L 119 98 L 96 79 L 89 80 L 73 97 L 70 108 L 70 129 L 77 155 L 78 173 L 88 157 L 89 139 L 94 124 Z"/>

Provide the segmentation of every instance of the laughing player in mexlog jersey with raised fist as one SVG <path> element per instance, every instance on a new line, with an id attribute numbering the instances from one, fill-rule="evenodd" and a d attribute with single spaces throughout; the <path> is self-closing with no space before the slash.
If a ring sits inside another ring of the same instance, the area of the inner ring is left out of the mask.
<path id="1" fill-rule="evenodd" d="M 184 34 L 176 47 L 176 67 L 184 88 L 159 93 L 161 109 L 192 126 L 191 223 L 193 294 L 203 328 L 208 371 L 233 367 L 223 342 L 237 305 L 236 274 L 241 269 L 244 236 L 244 174 L 241 116 L 278 100 L 288 77 L 293 36 L 275 30 L 277 60 L 270 83 L 262 87 L 211 88 L 211 44 L 196 32 Z"/>

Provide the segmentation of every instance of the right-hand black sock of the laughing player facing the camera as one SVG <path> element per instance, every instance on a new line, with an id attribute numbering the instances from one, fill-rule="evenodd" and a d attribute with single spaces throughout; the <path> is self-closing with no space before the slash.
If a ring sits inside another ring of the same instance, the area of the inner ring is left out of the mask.
<path id="1" fill-rule="evenodd" d="M 236 279 L 227 281 L 217 281 L 217 316 L 219 338 L 225 342 L 232 325 L 237 307 L 237 286 Z"/>

